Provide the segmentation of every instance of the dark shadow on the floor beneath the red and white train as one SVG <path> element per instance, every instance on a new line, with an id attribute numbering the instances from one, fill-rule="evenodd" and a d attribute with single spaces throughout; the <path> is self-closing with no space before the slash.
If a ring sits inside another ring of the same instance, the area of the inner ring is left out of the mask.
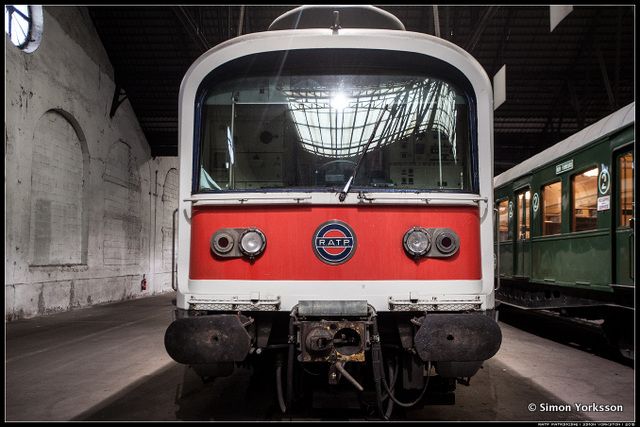
<path id="1" fill-rule="evenodd" d="M 202 383 L 191 370 L 175 363 L 142 378 L 107 401 L 85 411 L 74 421 L 277 421 L 376 420 L 375 413 L 344 409 L 296 408 L 283 415 L 276 400 L 274 371 L 252 372 L 238 368 L 229 377 Z M 531 381 L 490 360 L 471 378 L 469 387 L 458 385 L 455 405 L 396 408 L 395 420 L 585 420 L 574 412 L 529 411 L 530 403 L 563 404 Z"/>

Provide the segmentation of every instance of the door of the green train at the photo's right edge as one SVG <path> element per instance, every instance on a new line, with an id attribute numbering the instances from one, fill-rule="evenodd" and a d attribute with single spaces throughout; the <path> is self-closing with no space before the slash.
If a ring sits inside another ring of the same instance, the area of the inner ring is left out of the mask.
<path id="1" fill-rule="evenodd" d="M 618 285 L 634 285 L 634 163 L 633 150 L 626 148 L 615 154 L 615 277 Z"/>

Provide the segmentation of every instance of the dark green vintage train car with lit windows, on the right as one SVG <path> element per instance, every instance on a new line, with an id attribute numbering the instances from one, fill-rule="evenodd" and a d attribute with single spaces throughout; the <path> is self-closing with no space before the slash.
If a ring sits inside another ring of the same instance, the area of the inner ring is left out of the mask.
<path id="1" fill-rule="evenodd" d="M 602 319 L 631 358 L 634 147 L 631 103 L 494 178 L 496 299 Z"/>

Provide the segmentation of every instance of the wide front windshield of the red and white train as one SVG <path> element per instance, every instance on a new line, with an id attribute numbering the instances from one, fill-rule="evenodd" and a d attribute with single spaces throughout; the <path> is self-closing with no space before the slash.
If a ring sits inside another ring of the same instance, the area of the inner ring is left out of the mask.
<path id="1" fill-rule="evenodd" d="M 456 82 L 406 54 L 343 51 L 252 55 L 205 79 L 194 190 L 340 191 L 361 161 L 352 191 L 472 191 Z"/>

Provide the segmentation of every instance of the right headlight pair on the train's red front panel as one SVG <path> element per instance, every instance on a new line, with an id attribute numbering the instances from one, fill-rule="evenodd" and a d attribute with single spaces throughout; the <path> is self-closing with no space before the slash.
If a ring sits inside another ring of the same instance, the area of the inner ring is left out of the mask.
<path id="1" fill-rule="evenodd" d="M 410 257 L 446 258 L 458 251 L 460 238 L 448 228 L 412 227 L 402 238 L 404 250 Z"/>

